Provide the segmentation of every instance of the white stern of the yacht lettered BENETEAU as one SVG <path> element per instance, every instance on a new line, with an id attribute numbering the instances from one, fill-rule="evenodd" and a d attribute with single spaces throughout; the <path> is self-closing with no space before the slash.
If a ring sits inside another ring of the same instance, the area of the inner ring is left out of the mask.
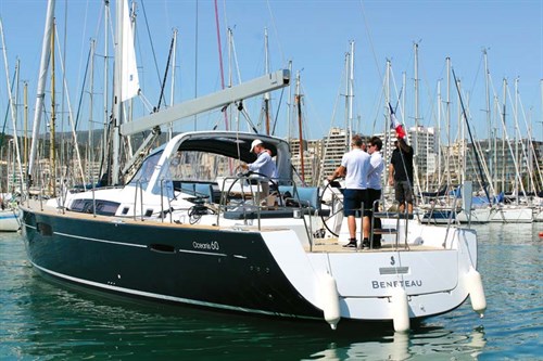
<path id="1" fill-rule="evenodd" d="M 424 225 L 412 232 L 418 234 L 418 245 L 375 252 L 306 252 L 289 246 L 289 236 L 263 236 L 289 281 L 323 310 L 325 319 L 327 313 L 337 312 L 339 319 L 395 322 L 403 312 L 399 311 L 399 298 L 405 298 L 405 315 L 419 319 L 451 311 L 473 293 L 473 230 Z M 431 237 L 432 241 L 421 242 L 422 236 Z M 399 292 L 405 296 L 399 297 Z M 478 302 L 482 312 L 482 302 Z M 332 327 L 339 319 L 330 322 Z"/>

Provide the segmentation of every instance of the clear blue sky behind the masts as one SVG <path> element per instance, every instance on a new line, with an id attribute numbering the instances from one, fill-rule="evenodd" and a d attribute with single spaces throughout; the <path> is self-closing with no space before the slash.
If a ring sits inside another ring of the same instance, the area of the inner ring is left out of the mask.
<path id="1" fill-rule="evenodd" d="M 270 68 L 287 67 L 289 61 L 292 61 L 293 76 L 300 72 L 304 95 L 305 138 L 320 138 L 331 126 L 344 125 L 344 54 L 349 51 L 351 40 L 355 41 L 354 113 L 358 131 L 370 134 L 382 131 L 384 127 L 384 104 L 381 94 L 387 60 L 392 63 L 393 81 L 397 91 L 402 87 L 402 78 L 405 78 L 405 90 L 402 90 L 405 99 L 401 101 L 405 102 L 405 109 L 399 112 L 400 118 L 407 126 L 414 125 L 413 49 L 414 43 L 418 43 L 419 124 L 437 126 L 437 85 L 441 79 L 441 92 L 442 96 L 445 96 L 445 59 L 450 56 L 455 74 L 462 81 L 464 102 L 469 105 L 470 121 L 477 136 L 488 137 L 483 112 L 485 77 L 482 57 L 482 50 L 487 49 L 493 85 L 491 91 L 500 102 L 503 102 L 503 79 L 507 79 L 506 121 L 509 137 L 513 137 L 514 132 L 512 115 L 515 107 L 522 133 L 526 134 L 525 123 L 528 123 L 532 125 L 533 137 L 543 137 L 541 0 L 220 0 L 217 4 L 225 72 L 233 68 L 235 74 L 241 74 L 242 80 L 263 74 L 264 28 L 267 28 L 269 36 Z M 46 5 L 46 0 L 0 0 L 10 77 L 13 76 L 15 60 L 18 59 L 20 79 L 21 82 L 28 82 L 31 109 L 36 96 Z M 197 8 L 198 77 L 194 66 Z M 56 1 L 59 37 L 63 48 L 62 56 L 65 57 L 65 76 L 74 112 L 81 94 L 90 39 L 96 39 L 97 52 L 103 54 L 103 15 L 100 14 L 102 9 L 103 2 L 99 0 Z M 195 93 L 204 95 L 220 88 L 214 1 L 199 1 L 198 7 L 195 1 L 188 0 L 138 1 L 138 65 L 142 91 L 151 104 L 156 104 L 159 99 L 159 83 L 163 77 L 174 28 L 179 34 L 175 101 L 191 99 Z M 233 31 L 238 62 L 236 67 L 230 67 L 228 62 L 227 28 Z M 154 54 L 150 38 L 153 41 Z M 98 93 L 96 104 L 99 104 L 103 92 L 103 60 L 97 59 L 96 62 L 94 92 Z M 56 77 L 60 76 L 61 70 L 58 68 Z M 225 77 L 227 76 L 225 74 Z M 4 109 L 8 102 L 4 72 L 1 73 L 0 79 L 0 107 Z M 58 87 L 59 85 L 58 80 Z M 169 85 L 167 87 L 166 99 L 169 100 Z M 451 91 L 454 123 L 452 128 L 455 129 L 458 101 L 454 87 Z M 287 94 L 286 91 L 283 96 Z M 394 94 L 393 96 L 397 98 Z M 275 109 L 279 107 L 279 91 L 273 94 Z M 58 95 L 60 102 L 59 99 Z M 81 127 L 85 127 L 89 112 L 88 96 L 84 98 L 81 104 L 81 113 L 87 115 L 81 115 L 79 121 Z M 254 124 L 258 123 L 260 106 L 261 101 L 245 103 Z M 29 113 L 34 114 L 33 112 Z M 101 116 L 99 111 L 93 114 L 94 119 Z M 197 127 L 205 129 L 216 124 L 219 127 L 224 125 L 223 116 L 213 112 L 200 117 Z M 176 126 L 176 130 L 193 127 L 193 120 L 185 120 Z M 497 125 L 493 127 L 497 128 Z M 283 100 L 277 116 L 276 133 L 283 137 L 288 134 L 287 128 L 287 105 Z M 295 130 L 292 130 L 291 134 L 294 132 Z"/>

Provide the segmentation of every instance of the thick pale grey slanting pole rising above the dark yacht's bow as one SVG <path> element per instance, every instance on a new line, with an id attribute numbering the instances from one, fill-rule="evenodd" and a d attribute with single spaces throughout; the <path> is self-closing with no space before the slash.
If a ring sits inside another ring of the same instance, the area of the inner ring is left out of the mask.
<path id="1" fill-rule="evenodd" d="M 53 27 L 54 16 L 54 0 L 49 0 L 47 5 L 46 26 L 43 31 L 43 41 L 41 47 L 41 61 L 39 67 L 38 86 L 36 91 L 36 107 L 34 111 L 33 137 L 30 144 L 30 158 L 28 160 L 28 183 L 31 184 L 31 173 L 34 170 L 34 163 L 38 146 L 38 132 L 41 123 L 41 111 L 43 108 L 43 101 L 46 96 L 46 81 L 47 69 L 49 67 L 50 52 L 49 39 L 51 38 L 51 30 Z"/>

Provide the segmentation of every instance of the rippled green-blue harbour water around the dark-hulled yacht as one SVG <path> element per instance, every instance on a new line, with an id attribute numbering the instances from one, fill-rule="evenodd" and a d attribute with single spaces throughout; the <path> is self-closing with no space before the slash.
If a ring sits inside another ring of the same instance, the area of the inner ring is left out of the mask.
<path id="1" fill-rule="evenodd" d="M 468 301 L 408 335 L 98 297 L 46 282 L 0 234 L 0 360 L 543 360 L 543 223 L 477 230 L 484 319 Z"/>

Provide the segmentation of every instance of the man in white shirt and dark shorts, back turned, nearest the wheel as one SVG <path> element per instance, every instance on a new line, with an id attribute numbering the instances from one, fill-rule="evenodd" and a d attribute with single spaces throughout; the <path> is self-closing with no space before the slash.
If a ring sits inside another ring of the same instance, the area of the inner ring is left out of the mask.
<path id="1" fill-rule="evenodd" d="M 361 136 L 354 136 L 351 141 L 352 151 L 343 155 L 341 165 L 328 177 L 331 182 L 338 177 L 345 177 L 343 191 L 343 215 L 348 218 L 349 243 L 344 247 L 356 248 L 356 214 L 362 212 L 362 204 L 366 206 L 366 190 L 370 156 L 362 150 Z"/>

